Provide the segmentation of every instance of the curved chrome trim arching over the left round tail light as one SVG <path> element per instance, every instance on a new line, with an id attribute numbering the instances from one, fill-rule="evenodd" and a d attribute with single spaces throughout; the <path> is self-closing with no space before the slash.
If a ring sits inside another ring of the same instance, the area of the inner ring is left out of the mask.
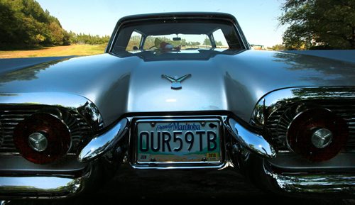
<path id="1" fill-rule="evenodd" d="M 67 93 L 11 93 L 0 94 L 0 106 L 31 106 L 31 105 L 44 105 L 55 106 L 70 109 L 79 113 L 89 125 L 98 130 L 104 127 L 104 121 L 99 109 L 92 101 L 77 94 Z"/>

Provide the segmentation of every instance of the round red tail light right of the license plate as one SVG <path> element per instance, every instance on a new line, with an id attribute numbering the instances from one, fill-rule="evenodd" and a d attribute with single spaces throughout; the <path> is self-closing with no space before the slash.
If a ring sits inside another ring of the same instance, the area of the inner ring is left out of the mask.
<path id="1" fill-rule="evenodd" d="M 332 159 L 348 138 L 346 122 L 327 109 L 309 109 L 293 118 L 287 132 L 288 147 L 308 160 Z"/>

